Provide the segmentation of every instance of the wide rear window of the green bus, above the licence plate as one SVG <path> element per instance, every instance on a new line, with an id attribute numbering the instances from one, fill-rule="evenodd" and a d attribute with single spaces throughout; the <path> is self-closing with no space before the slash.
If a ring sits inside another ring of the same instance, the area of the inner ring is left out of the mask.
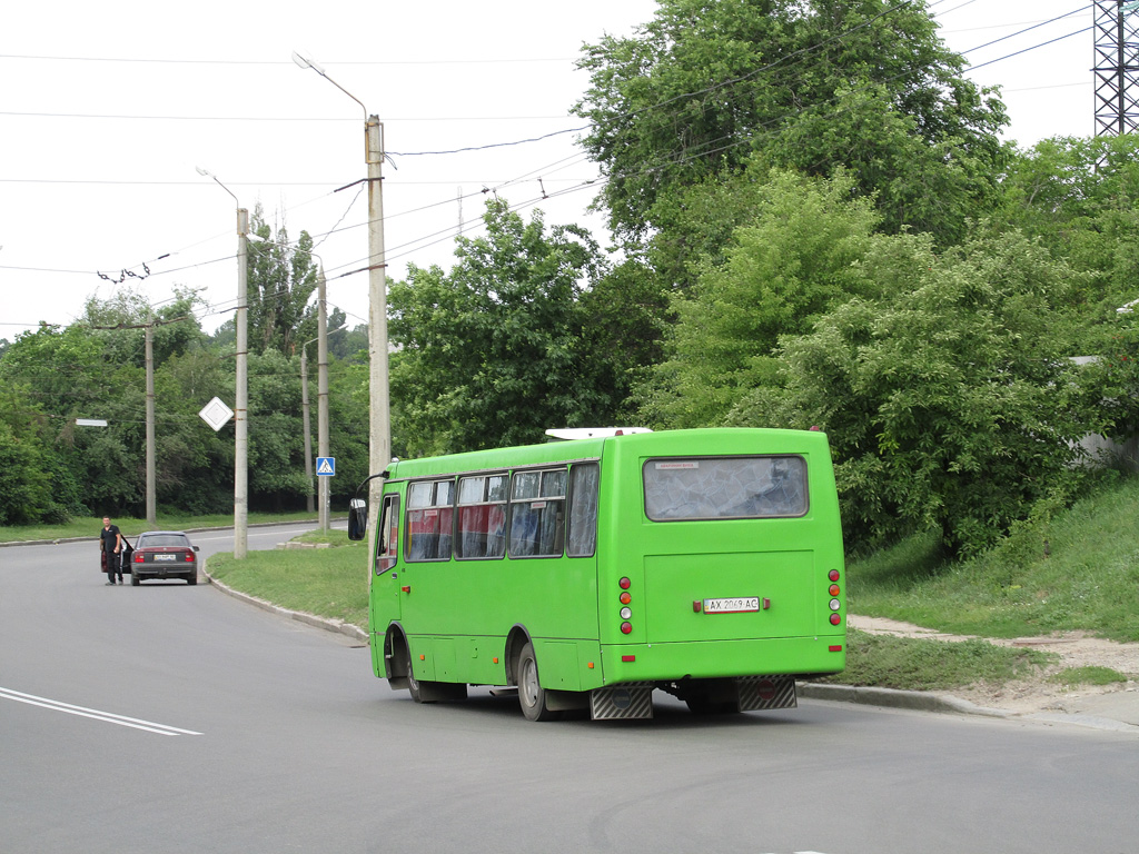
<path id="1" fill-rule="evenodd" d="M 802 457 L 657 459 L 645 463 L 644 476 L 645 512 L 655 522 L 806 514 Z"/>

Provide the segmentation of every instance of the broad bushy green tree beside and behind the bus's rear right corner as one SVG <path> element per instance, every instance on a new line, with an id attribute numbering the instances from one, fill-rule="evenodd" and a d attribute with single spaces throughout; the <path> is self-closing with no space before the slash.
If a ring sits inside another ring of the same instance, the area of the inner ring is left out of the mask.
<path id="1" fill-rule="evenodd" d="M 1015 231 L 940 255 L 928 237 L 888 239 L 912 287 L 785 338 L 785 387 L 730 420 L 827 429 L 850 545 L 933 526 L 950 553 L 975 553 L 1080 476 L 1100 416 L 1057 311 L 1080 274 Z"/>

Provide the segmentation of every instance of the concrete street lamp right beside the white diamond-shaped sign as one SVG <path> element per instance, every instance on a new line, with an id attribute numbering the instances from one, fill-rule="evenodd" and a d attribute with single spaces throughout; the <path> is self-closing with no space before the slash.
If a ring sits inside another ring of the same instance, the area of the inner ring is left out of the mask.
<path id="1" fill-rule="evenodd" d="M 241 207 L 233 191 L 218 180 L 218 175 L 196 166 L 198 174 L 212 178 L 237 205 L 237 315 L 233 326 L 237 331 L 236 362 L 237 379 L 233 393 L 233 557 L 245 559 L 248 545 L 249 520 L 249 345 L 248 345 L 248 258 L 249 212 Z"/>

